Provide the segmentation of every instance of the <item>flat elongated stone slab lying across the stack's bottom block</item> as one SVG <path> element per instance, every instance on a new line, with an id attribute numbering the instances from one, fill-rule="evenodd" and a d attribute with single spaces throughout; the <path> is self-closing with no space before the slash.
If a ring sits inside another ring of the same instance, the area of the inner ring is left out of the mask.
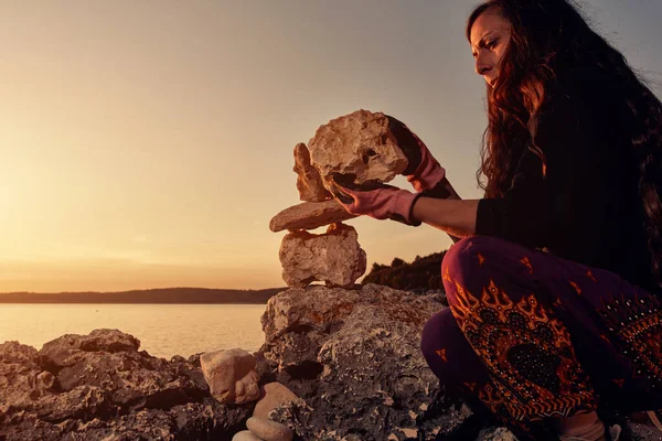
<path id="1" fill-rule="evenodd" d="M 271 222 L 269 222 L 269 229 L 274 233 L 284 229 L 289 229 L 290 232 L 314 229 L 354 217 L 356 216 L 348 213 L 335 200 L 303 202 L 285 208 L 274 216 Z"/>

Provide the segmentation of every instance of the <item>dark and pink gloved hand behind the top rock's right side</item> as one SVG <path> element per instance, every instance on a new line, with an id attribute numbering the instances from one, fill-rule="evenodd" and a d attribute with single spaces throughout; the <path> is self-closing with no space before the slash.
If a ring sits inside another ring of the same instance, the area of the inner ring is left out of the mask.
<path id="1" fill-rule="evenodd" d="M 407 158 L 408 165 L 402 174 L 407 178 L 417 192 L 436 187 L 446 178 L 446 170 L 439 165 L 427 146 L 407 126 L 392 116 L 387 115 L 386 117 L 397 146 Z"/>

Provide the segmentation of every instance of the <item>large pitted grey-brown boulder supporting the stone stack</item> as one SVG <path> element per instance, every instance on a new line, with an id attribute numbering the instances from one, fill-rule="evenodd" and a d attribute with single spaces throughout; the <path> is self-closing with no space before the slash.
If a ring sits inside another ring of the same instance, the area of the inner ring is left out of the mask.
<path id="1" fill-rule="evenodd" d="M 440 295 L 377 284 L 360 290 L 308 287 L 273 297 L 261 318 L 258 372 L 303 400 L 270 418 L 307 440 L 419 440 L 460 423 L 420 354 L 420 331 L 442 309 Z M 466 408 L 465 408 L 466 409 Z"/>

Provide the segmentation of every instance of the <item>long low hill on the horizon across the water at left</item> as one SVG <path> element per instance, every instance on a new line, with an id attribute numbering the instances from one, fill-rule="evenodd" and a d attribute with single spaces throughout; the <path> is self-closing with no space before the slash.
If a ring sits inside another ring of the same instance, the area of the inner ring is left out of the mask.
<path id="1" fill-rule="evenodd" d="M 206 288 L 158 288 L 121 292 L 7 292 L 0 303 L 267 303 L 287 288 L 229 290 Z"/>

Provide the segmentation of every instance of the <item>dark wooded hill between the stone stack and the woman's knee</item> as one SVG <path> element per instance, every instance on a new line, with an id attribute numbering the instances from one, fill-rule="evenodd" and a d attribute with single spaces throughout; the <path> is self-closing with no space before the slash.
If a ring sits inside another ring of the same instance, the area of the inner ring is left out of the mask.
<path id="1" fill-rule="evenodd" d="M 362 283 L 385 284 L 401 290 L 442 290 L 441 261 L 446 250 L 434 252 L 429 256 L 416 256 L 413 262 L 407 263 L 401 258 L 395 258 L 391 266 L 373 263 Z"/>

